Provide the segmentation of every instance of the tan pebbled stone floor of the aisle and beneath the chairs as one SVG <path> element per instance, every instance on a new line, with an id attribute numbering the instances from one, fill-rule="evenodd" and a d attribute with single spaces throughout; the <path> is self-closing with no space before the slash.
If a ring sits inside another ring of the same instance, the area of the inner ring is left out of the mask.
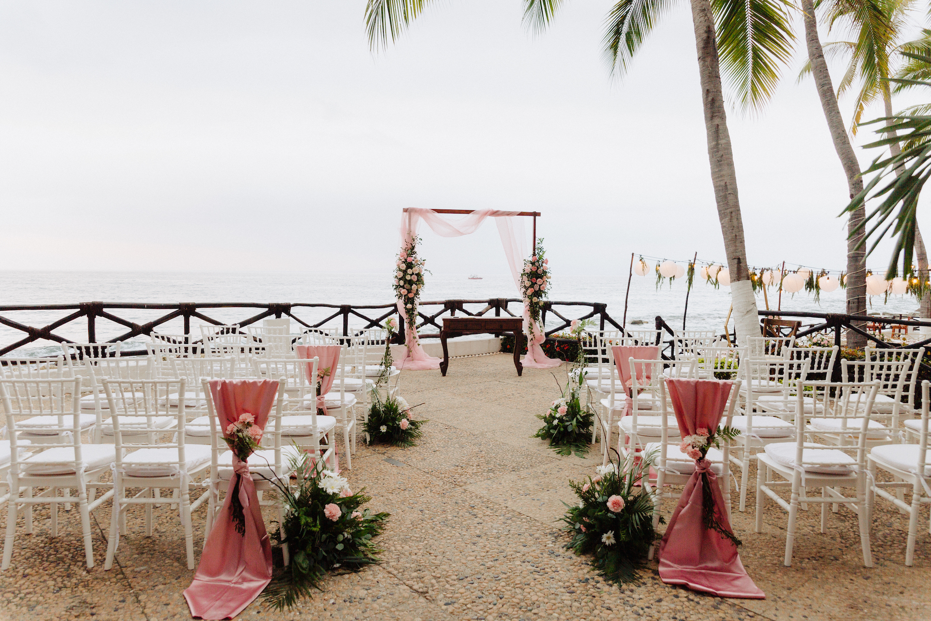
<path id="1" fill-rule="evenodd" d="M 565 371 L 555 371 L 563 377 Z M 847 619 L 931 618 L 926 527 L 919 533 L 918 564 L 905 568 L 907 522 L 888 506 L 874 517 L 876 567 L 859 560 L 857 520 L 832 515 L 827 534 L 818 511 L 801 518 L 795 563 L 782 567 L 785 517 L 766 514 L 764 532 L 752 533 L 753 500 L 746 516 L 735 511 L 741 557 L 766 591 L 766 601 L 726 601 L 668 587 L 647 570 L 639 586 L 608 586 L 587 561 L 562 545 L 561 501 L 573 494 L 567 479 L 581 479 L 600 464 L 592 456 L 563 457 L 532 439 L 542 412 L 557 392 L 550 371 L 517 377 L 504 355 L 456 358 L 449 375 L 402 375 L 402 394 L 429 423 L 420 446 L 365 448 L 347 472 L 366 487 L 372 508 L 392 514 L 381 543 L 385 563 L 360 574 L 332 576 L 324 592 L 299 608 L 276 613 L 261 599 L 241 619 Z M 755 480 L 755 471 L 751 473 Z M 768 502 L 768 501 L 767 501 Z M 664 506 L 668 516 L 672 506 Z M 61 512 L 61 534 L 48 536 L 47 509 L 36 511 L 33 535 L 18 533 L 13 564 L 0 574 L 0 619 L 184 619 L 182 590 L 192 572 L 184 566 L 177 514 L 156 509 L 155 536 L 142 536 L 142 516 L 130 514 L 118 564 L 102 570 L 109 505 L 93 516 L 95 560 L 86 570 L 76 510 Z M 203 544 L 204 512 L 195 515 L 196 549 Z M 271 523 L 274 516 L 265 515 Z M 6 523 L 6 509 L 0 524 Z M 920 522 L 926 526 L 926 513 Z M 20 520 L 21 524 L 21 520 Z M 655 565 L 651 569 L 654 569 Z"/>

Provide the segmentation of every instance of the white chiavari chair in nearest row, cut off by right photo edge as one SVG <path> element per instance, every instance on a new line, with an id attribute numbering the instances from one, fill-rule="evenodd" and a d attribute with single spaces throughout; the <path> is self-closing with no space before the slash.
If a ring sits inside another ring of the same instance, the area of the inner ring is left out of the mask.
<path id="1" fill-rule="evenodd" d="M 922 382 L 922 417 L 916 422 L 917 444 L 885 444 L 875 446 L 867 455 L 870 465 L 870 492 L 867 497 L 868 515 L 872 517 L 875 497 L 888 500 L 909 516 L 909 535 L 905 547 L 905 564 L 915 560 L 915 539 L 918 534 L 918 517 L 922 505 L 931 505 L 931 452 L 928 451 L 928 382 Z M 880 481 L 878 470 L 893 476 L 892 481 Z M 911 504 L 899 492 L 911 490 Z M 896 495 L 889 493 L 895 492 Z M 872 523 L 872 520 L 870 520 Z M 931 528 L 929 528 L 931 530 Z"/>

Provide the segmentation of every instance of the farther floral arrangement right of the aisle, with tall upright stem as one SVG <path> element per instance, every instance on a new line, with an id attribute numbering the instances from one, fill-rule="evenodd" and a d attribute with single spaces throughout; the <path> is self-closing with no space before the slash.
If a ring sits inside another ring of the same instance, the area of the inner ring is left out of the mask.
<path id="1" fill-rule="evenodd" d="M 573 319 L 572 331 L 578 339 L 587 326 L 586 322 Z M 578 457 L 585 457 L 591 438 L 591 425 L 595 413 L 583 398 L 585 393 L 585 350 L 581 346 L 573 362 L 573 370 L 568 373 L 565 387 L 560 386 L 561 396 L 553 401 L 546 414 L 537 414 L 543 421 L 533 438 L 548 439 L 550 448 L 560 455 L 573 452 Z M 554 376 L 555 377 L 555 376 Z"/>

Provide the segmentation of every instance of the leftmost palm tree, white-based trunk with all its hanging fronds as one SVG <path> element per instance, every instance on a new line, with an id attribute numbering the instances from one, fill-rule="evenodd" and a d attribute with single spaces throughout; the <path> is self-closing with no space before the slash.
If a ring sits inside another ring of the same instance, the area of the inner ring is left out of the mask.
<path id="1" fill-rule="evenodd" d="M 385 45 L 423 10 L 429 0 L 369 0 L 366 27 L 372 47 Z M 561 0 L 524 0 L 524 20 L 545 28 Z M 605 54 L 624 74 L 654 25 L 668 11 L 668 0 L 618 0 L 605 29 Z M 791 55 L 789 15 L 779 0 L 690 0 L 705 111 L 711 182 L 731 275 L 737 340 L 760 334 L 756 298 L 749 280 L 744 226 L 737 196 L 734 153 L 724 109 L 722 70 L 745 108 L 762 107 Z M 716 27 L 717 24 L 717 27 Z M 719 55 L 720 51 L 720 55 Z"/>

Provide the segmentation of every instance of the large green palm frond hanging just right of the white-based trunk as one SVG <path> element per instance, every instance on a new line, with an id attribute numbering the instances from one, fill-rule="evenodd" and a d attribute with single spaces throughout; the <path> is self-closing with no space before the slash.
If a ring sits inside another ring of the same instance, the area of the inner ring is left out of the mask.
<path id="1" fill-rule="evenodd" d="M 776 91 L 795 35 L 780 0 L 712 0 L 722 74 L 746 110 L 760 110 Z"/>

